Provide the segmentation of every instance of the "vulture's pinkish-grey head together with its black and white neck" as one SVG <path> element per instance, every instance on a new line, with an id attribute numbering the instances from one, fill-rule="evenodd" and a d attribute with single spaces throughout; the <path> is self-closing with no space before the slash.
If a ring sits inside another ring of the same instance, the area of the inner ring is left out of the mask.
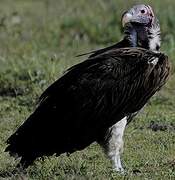
<path id="1" fill-rule="evenodd" d="M 135 5 L 122 16 L 122 26 L 130 46 L 159 51 L 161 38 L 159 21 L 151 6 Z"/>

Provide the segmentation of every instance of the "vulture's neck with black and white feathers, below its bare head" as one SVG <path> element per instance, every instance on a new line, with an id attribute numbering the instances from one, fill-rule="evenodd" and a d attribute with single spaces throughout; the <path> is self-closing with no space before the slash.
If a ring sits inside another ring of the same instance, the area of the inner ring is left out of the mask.
<path id="1" fill-rule="evenodd" d="M 142 47 L 155 52 L 160 49 L 160 28 L 155 23 L 151 27 L 139 24 L 127 24 L 124 30 L 124 40 L 128 41 L 130 47 Z"/>

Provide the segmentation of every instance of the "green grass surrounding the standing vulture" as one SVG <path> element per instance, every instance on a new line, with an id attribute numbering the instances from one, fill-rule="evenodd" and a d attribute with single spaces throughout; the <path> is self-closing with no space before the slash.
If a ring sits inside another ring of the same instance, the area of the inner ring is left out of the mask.
<path id="1" fill-rule="evenodd" d="M 135 3 L 152 5 L 160 19 L 162 51 L 172 62 L 166 86 L 125 133 L 125 176 L 114 172 L 97 144 L 70 157 L 37 160 L 26 174 L 4 179 L 175 178 L 175 1 L 1 0 L 0 1 L 0 174 L 16 161 L 4 152 L 6 139 L 35 109 L 41 92 L 73 64 L 75 55 L 122 38 L 120 17 Z M 150 123 L 167 126 L 152 131 Z M 134 172 L 134 173 L 133 173 Z M 3 177 L 0 177 L 3 179 Z"/>

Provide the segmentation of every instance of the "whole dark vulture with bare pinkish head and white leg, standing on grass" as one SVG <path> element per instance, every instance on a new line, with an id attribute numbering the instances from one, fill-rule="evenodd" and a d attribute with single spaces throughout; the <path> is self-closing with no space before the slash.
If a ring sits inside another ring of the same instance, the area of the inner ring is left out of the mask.
<path id="1" fill-rule="evenodd" d="M 21 157 L 24 168 L 37 157 L 72 153 L 97 141 L 114 168 L 123 170 L 126 121 L 166 83 L 169 63 L 158 52 L 160 27 L 150 6 L 134 6 L 122 24 L 124 39 L 87 53 L 86 61 L 45 90 L 35 112 L 8 139 L 6 151 Z"/>

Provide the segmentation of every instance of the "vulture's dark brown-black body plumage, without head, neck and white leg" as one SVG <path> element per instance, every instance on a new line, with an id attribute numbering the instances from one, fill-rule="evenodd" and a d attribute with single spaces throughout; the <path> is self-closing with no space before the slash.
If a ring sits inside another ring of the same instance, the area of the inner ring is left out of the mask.
<path id="1" fill-rule="evenodd" d="M 21 156 L 27 167 L 37 157 L 100 141 L 109 127 L 145 105 L 168 72 L 167 56 L 141 48 L 111 50 L 77 64 L 41 95 L 6 151 Z"/>

